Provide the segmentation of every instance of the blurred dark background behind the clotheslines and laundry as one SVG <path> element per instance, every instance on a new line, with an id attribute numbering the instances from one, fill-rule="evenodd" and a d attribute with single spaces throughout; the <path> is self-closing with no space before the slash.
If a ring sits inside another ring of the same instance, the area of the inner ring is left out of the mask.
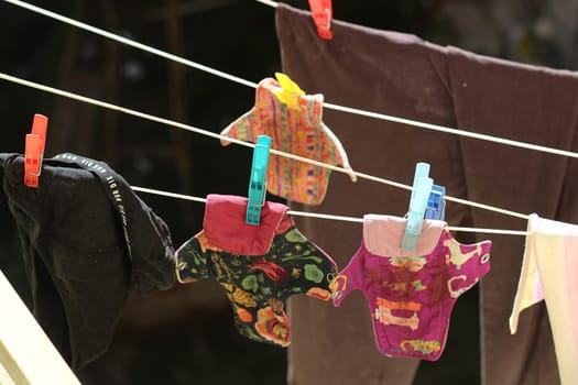
<path id="1" fill-rule="evenodd" d="M 305 0 L 287 2 L 308 7 Z M 274 10 L 255 1 L 32 3 L 252 81 L 281 70 Z M 337 0 L 334 15 L 556 68 L 574 69 L 578 58 L 577 1 Z M 2 73 L 214 132 L 254 101 L 251 88 L 1 0 L 0 31 Z M 248 148 L 221 147 L 212 139 L 7 81 L 0 82 L 0 152 L 23 152 L 36 112 L 50 118 L 47 156 L 74 152 L 102 160 L 132 185 L 195 196 L 247 194 Z M 141 197 L 170 224 L 175 245 L 201 228 L 203 205 Z M 14 222 L 2 194 L 0 224 L 0 270 L 30 305 Z M 0 310 L 0 317 L 10 315 Z M 415 384 L 479 383 L 478 338 L 478 293 L 470 290 L 452 315 L 444 356 L 423 363 Z M 283 384 L 285 366 L 285 351 L 241 337 L 220 287 L 200 282 L 146 299 L 131 296 L 114 343 L 78 376 L 87 385 Z"/>

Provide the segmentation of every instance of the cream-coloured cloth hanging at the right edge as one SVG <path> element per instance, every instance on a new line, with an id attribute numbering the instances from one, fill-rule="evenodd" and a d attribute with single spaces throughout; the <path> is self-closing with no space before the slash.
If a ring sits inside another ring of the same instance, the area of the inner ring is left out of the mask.
<path id="1" fill-rule="evenodd" d="M 520 311 L 546 300 L 561 384 L 578 384 L 578 226 L 530 216 L 510 331 Z"/>

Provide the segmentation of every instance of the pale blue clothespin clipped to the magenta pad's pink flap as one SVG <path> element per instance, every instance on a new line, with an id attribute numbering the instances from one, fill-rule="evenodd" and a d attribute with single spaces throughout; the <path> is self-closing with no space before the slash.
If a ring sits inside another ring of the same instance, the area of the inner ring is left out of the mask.
<path id="1" fill-rule="evenodd" d="M 427 207 L 427 199 L 434 185 L 434 179 L 429 178 L 429 164 L 418 163 L 415 167 L 412 198 L 410 199 L 410 211 L 407 212 L 407 223 L 403 235 L 402 249 L 412 250 L 417 243 L 417 238 L 422 233 L 422 226 Z"/>

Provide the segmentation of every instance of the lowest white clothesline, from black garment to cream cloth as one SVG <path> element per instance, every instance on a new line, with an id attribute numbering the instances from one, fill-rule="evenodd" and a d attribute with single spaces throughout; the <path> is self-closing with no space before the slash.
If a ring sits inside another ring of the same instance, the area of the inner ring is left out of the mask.
<path id="1" fill-rule="evenodd" d="M 159 195 L 163 197 L 192 200 L 192 201 L 201 202 L 201 204 L 207 202 L 206 198 L 194 197 L 189 195 L 168 193 L 168 191 L 163 191 L 163 190 L 157 190 L 157 189 L 146 188 L 146 187 L 139 187 L 139 186 L 131 186 L 131 188 L 134 191 L 140 191 L 140 193 L 145 193 L 145 194 L 153 194 L 153 195 Z M 295 216 L 295 217 L 309 217 L 309 218 L 329 219 L 329 220 L 337 220 L 337 221 L 345 221 L 345 222 L 363 223 L 363 218 L 356 218 L 356 217 L 345 217 L 345 216 L 335 216 L 335 215 L 328 215 L 328 213 L 305 212 L 305 211 L 295 211 L 295 210 L 290 210 L 287 211 L 287 213 Z M 451 226 L 448 227 L 448 230 L 461 231 L 461 232 L 488 233 L 488 234 L 524 235 L 524 237 L 528 234 L 527 231 L 460 228 L 460 227 L 451 227 Z"/>

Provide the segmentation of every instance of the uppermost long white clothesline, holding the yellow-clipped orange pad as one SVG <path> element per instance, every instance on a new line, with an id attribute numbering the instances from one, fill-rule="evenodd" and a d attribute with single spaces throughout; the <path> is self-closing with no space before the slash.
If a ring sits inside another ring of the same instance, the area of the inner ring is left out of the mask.
<path id="1" fill-rule="evenodd" d="M 167 53 L 165 51 L 161 51 L 161 50 L 154 48 L 154 47 L 152 47 L 150 45 L 145 45 L 145 44 L 135 42 L 133 40 L 120 36 L 118 34 L 114 34 L 114 33 L 111 33 L 111 32 L 108 32 L 108 31 L 105 31 L 105 30 L 101 30 L 101 29 L 98 29 L 96 26 L 83 23 L 80 21 L 77 21 L 77 20 L 67 18 L 67 16 L 64 16 L 62 14 L 48 11 L 46 9 L 33 6 L 33 4 L 29 4 L 29 3 L 24 2 L 24 1 L 20 1 L 20 0 L 3 0 L 3 1 L 8 2 L 8 3 L 11 3 L 13 6 L 17 6 L 17 7 L 23 8 L 23 9 L 26 9 L 29 11 L 32 11 L 32 12 L 45 15 L 47 18 L 61 21 L 61 22 L 66 23 L 68 25 L 72 25 L 72 26 L 85 30 L 87 32 L 90 32 L 90 33 L 103 36 L 106 38 L 113 40 L 113 41 L 116 41 L 118 43 L 121 43 L 121 44 L 124 44 L 124 45 L 128 45 L 128 46 L 131 46 L 131 47 L 134 47 L 134 48 L 138 48 L 138 50 L 141 50 L 141 51 L 148 52 L 148 53 L 156 55 L 156 56 L 164 57 L 164 58 L 170 59 L 172 62 L 176 62 L 176 63 L 183 64 L 183 65 L 185 65 L 187 67 L 192 67 L 192 68 L 196 68 L 196 69 L 203 70 L 205 73 L 218 76 L 220 78 L 223 78 L 223 79 L 227 79 L 227 80 L 230 80 L 230 81 L 233 81 L 233 82 L 247 86 L 247 87 L 257 88 L 257 86 L 258 86 L 258 84 L 254 82 L 254 81 L 250 81 L 250 80 L 240 78 L 238 76 L 225 73 L 222 70 L 218 70 L 218 69 L 211 68 L 209 66 L 206 66 L 206 65 L 203 65 L 203 64 L 199 64 L 199 63 L 186 59 L 184 57 L 170 54 L 170 53 Z M 273 2 L 273 1 L 268 1 L 268 0 L 257 0 L 257 1 L 265 3 L 265 4 L 271 6 L 271 7 L 276 7 L 277 6 L 277 3 Z M 416 127 L 416 128 L 421 128 L 421 129 L 425 129 L 425 130 L 445 132 L 445 133 L 448 133 L 448 134 L 460 135 L 460 136 L 477 139 L 477 140 L 487 141 L 487 142 L 499 143 L 499 144 L 509 145 L 509 146 L 512 146 L 512 147 L 520 147 L 520 148 L 538 151 L 538 152 L 544 152 L 544 153 L 559 155 L 559 156 L 568 156 L 568 157 L 578 158 L 578 153 L 575 153 L 575 152 L 571 152 L 571 151 L 554 148 L 554 147 L 547 147 L 547 146 L 543 146 L 543 145 L 538 145 L 538 144 L 520 142 L 520 141 L 509 140 L 509 139 L 493 136 L 493 135 L 480 134 L 480 133 L 477 133 L 477 132 L 465 131 L 465 130 L 448 128 L 448 127 L 444 127 L 444 125 L 421 122 L 421 121 L 416 121 L 416 120 L 412 120 L 412 119 L 405 119 L 405 118 L 401 118 L 401 117 L 394 117 L 394 116 L 389 116 L 389 114 L 384 114 L 384 113 L 367 111 L 367 110 L 362 110 L 362 109 L 358 109 L 358 108 L 338 106 L 338 105 L 334 105 L 334 103 L 329 103 L 329 102 L 324 102 L 324 107 L 327 108 L 327 109 L 330 109 L 330 110 L 341 111 L 341 112 L 346 112 L 346 113 L 353 113 L 353 114 L 368 117 L 368 118 L 373 118 L 373 119 L 379 119 L 379 120 L 385 120 L 385 121 L 395 122 L 395 123 L 400 123 L 400 124 L 404 124 L 404 125 Z"/>

